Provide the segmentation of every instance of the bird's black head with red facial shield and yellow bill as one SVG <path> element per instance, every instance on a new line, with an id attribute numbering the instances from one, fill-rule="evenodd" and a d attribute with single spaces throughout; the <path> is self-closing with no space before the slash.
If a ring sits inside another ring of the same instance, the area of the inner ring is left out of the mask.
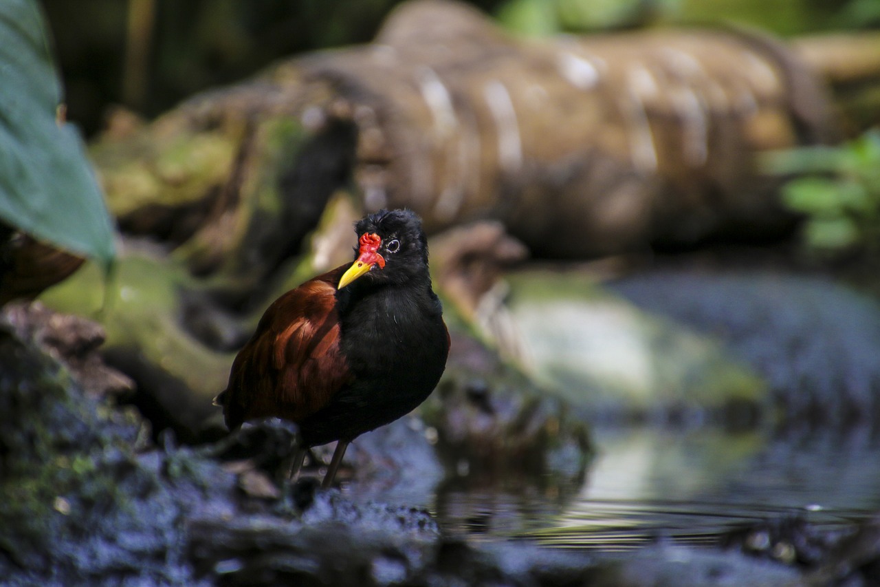
<path id="1" fill-rule="evenodd" d="M 355 232 L 355 263 L 342 276 L 340 289 L 361 277 L 403 284 L 428 276 L 428 239 L 415 212 L 380 210 L 358 221 Z"/>

